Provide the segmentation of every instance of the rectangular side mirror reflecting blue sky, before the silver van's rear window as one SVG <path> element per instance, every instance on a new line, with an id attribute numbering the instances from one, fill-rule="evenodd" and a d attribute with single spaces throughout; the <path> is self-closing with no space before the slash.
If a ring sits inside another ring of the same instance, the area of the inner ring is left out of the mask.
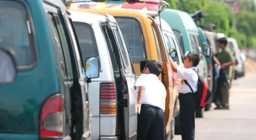
<path id="1" fill-rule="evenodd" d="M 87 78 L 98 78 L 100 76 L 100 58 L 98 56 L 85 59 L 85 74 Z"/>

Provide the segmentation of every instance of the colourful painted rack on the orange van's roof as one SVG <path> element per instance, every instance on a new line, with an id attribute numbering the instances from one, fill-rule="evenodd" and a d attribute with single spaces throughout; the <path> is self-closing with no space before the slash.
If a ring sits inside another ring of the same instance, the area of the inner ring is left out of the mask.
<path id="1" fill-rule="evenodd" d="M 120 1 L 93 1 L 93 0 L 73 0 L 69 9 L 87 9 L 87 8 L 113 8 L 130 9 L 143 11 L 150 16 L 157 16 L 170 5 L 162 0 L 120 0 Z"/>

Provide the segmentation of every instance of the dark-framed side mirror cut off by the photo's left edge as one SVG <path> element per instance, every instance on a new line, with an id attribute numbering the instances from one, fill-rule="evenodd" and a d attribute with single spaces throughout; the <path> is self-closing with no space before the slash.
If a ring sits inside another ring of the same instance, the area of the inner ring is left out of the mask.
<path id="1" fill-rule="evenodd" d="M 0 48 L 0 84 L 13 83 L 17 78 L 17 73 L 14 53 Z"/>

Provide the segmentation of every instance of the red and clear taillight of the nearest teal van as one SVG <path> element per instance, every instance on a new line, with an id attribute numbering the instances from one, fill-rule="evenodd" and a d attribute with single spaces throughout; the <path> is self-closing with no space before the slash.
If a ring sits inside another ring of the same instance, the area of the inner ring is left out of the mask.
<path id="1" fill-rule="evenodd" d="M 64 131 L 62 95 L 49 97 L 41 110 L 40 138 L 62 138 Z"/>

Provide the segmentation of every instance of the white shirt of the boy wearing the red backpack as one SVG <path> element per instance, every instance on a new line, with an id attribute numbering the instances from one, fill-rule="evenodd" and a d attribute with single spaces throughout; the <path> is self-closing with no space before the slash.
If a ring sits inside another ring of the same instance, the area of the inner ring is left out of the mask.
<path id="1" fill-rule="evenodd" d="M 187 80 L 194 93 L 197 91 L 198 75 L 194 71 L 196 67 L 191 68 L 177 68 L 178 79 L 178 93 L 191 93 L 191 89 L 185 84 L 184 80 Z"/>

